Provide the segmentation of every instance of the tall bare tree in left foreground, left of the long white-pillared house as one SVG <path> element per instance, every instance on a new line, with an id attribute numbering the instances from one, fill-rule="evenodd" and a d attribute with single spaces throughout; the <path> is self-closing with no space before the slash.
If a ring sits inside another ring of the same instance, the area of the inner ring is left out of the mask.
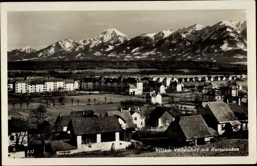
<path id="1" fill-rule="evenodd" d="M 52 130 L 51 125 L 48 124 L 52 124 L 54 118 L 50 116 L 44 105 L 40 104 L 37 108 L 31 110 L 28 119 L 30 129 L 38 134 L 36 138 L 41 141 L 42 157 L 44 157 L 45 140 L 49 139 Z"/>

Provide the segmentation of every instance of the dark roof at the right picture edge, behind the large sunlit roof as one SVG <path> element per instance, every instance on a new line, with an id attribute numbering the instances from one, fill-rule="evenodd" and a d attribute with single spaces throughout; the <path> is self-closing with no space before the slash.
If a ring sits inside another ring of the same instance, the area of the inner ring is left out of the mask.
<path id="1" fill-rule="evenodd" d="M 229 107 L 239 120 L 248 120 L 248 109 L 237 103 L 229 103 Z"/>

